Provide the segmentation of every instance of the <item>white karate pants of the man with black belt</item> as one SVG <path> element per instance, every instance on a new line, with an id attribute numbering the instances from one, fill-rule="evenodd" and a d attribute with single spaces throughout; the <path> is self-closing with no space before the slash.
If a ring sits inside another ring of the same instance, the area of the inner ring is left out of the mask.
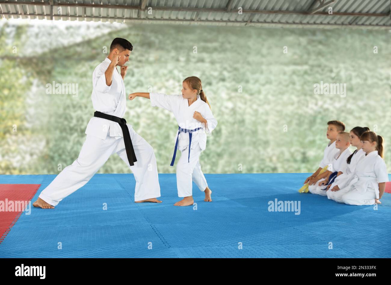
<path id="1" fill-rule="evenodd" d="M 123 137 L 115 139 L 107 135 L 106 139 L 100 139 L 87 135 L 79 157 L 43 189 L 39 198 L 56 206 L 63 198 L 84 186 L 113 153 L 117 153 L 133 172 L 136 180 L 135 201 L 160 197 L 154 150 L 133 128 L 129 128 L 129 133 L 137 159 L 135 165 L 129 164 Z"/>

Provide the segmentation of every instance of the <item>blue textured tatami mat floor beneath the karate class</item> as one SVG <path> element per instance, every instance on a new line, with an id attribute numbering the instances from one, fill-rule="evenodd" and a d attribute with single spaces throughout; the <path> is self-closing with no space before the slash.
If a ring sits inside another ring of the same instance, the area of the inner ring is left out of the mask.
<path id="1" fill-rule="evenodd" d="M 34 202 L 54 177 L 0 175 L 0 184 L 41 184 Z M 55 209 L 22 213 L 0 257 L 391 257 L 389 193 L 374 209 L 298 193 L 308 173 L 205 177 L 213 202 L 193 184 L 195 209 L 173 206 L 175 174 L 159 175 L 161 204 L 134 202 L 133 174 L 96 174 Z M 300 215 L 268 211 L 275 199 L 300 202 Z"/>

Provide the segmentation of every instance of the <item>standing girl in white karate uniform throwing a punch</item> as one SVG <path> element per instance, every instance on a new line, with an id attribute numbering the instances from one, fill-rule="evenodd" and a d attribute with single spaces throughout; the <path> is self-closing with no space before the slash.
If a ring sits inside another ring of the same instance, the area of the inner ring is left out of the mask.
<path id="1" fill-rule="evenodd" d="M 206 147 L 206 134 L 216 128 L 217 120 L 213 117 L 198 77 L 186 78 L 182 82 L 182 87 L 181 95 L 142 92 L 129 94 L 130 100 L 137 96 L 151 99 L 151 106 L 169 110 L 178 122 L 174 156 L 170 165 L 174 165 L 176 151 L 179 149 L 181 157 L 176 166 L 176 180 L 178 197 L 183 199 L 176 202 L 174 206 L 190 206 L 194 203 L 192 181 L 201 191 L 204 191 L 204 201 L 212 201 L 212 191 L 208 188 L 201 171 L 199 156 Z"/>

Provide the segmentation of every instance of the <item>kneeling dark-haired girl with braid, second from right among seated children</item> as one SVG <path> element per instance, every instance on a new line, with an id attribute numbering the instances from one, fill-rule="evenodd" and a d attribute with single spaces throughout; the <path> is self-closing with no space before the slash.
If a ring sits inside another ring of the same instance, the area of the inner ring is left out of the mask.
<path id="1" fill-rule="evenodd" d="M 326 194 L 327 198 L 330 200 L 334 200 L 335 202 L 343 203 L 342 196 L 348 193 L 349 188 L 346 188 L 348 186 L 349 182 L 353 178 L 353 173 L 356 168 L 357 162 L 362 159 L 362 157 L 365 156 L 365 152 L 361 148 L 361 141 L 360 137 L 364 132 L 368 132 L 368 127 L 354 127 L 350 133 L 350 145 L 355 146 L 357 150 L 355 150 L 347 159 L 347 167 L 346 171 L 339 175 L 337 178 L 335 178 L 333 184 L 330 185 L 328 188 Z M 343 191 L 341 189 L 344 189 Z"/>

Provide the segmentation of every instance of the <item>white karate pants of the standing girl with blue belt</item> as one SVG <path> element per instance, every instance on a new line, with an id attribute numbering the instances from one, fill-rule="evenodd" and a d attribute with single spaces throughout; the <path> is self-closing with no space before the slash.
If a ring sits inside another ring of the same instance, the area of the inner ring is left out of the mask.
<path id="1" fill-rule="evenodd" d="M 176 185 L 178 188 L 178 197 L 188 197 L 193 195 L 192 181 L 198 186 L 201 191 L 205 191 L 208 184 L 204 173 L 201 171 L 199 164 L 199 155 L 201 148 L 199 144 L 190 151 L 190 162 L 188 162 L 188 147 L 181 150 L 181 157 L 176 165 Z"/>

